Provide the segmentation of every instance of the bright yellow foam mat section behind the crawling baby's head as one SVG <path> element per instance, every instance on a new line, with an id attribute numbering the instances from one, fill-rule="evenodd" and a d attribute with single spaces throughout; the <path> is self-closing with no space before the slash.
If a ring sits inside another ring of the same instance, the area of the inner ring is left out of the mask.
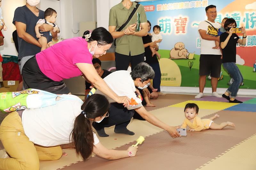
<path id="1" fill-rule="evenodd" d="M 199 112 L 201 109 L 215 109 L 215 110 L 224 110 L 228 107 L 232 107 L 237 105 L 238 103 L 228 103 L 228 102 L 219 102 L 219 101 L 196 101 L 196 100 L 188 100 L 182 103 L 178 103 L 175 105 L 171 105 L 168 107 L 184 107 L 187 103 L 196 103 L 199 107 Z"/>

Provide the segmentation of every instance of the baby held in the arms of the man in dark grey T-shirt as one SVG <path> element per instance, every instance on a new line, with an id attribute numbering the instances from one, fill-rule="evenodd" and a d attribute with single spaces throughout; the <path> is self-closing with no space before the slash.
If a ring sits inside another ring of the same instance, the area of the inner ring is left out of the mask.
<path id="1" fill-rule="evenodd" d="M 54 24 L 56 22 L 57 12 L 52 8 L 47 8 L 44 12 L 44 19 L 39 19 L 35 26 L 36 37 L 39 38 L 38 42 L 41 44 L 41 51 L 46 49 L 48 46 L 51 47 L 54 43 L 52 42 L 52 34 L 50 31 L 48 32 L 39 32 L 39 26 L 43 24 L 50 24 L 53 26 L 53 32 L 60 33 L 60 29 L 57 25 Z"/>

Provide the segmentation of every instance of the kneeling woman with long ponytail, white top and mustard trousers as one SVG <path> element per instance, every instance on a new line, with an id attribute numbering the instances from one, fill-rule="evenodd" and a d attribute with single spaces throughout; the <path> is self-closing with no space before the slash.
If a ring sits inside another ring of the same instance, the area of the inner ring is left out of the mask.
<path id="1" fill-rule="evenodd" d="M 138 146 L 126 151 L 107 149 L 92 131 L 91 122 L 107 117 L 108 109 L 107 98 L 95 94 L 84 104 L 80 99 L 63 100 L 10 113 L 1 123 L 0 139 L 11 158 L 0 159 L 0 169 L 39 170 L 39 161 L 61 158 L 63 144 L 73 144 L 84 160 L 92 152 L 113 160 L 135 156 Z"/>

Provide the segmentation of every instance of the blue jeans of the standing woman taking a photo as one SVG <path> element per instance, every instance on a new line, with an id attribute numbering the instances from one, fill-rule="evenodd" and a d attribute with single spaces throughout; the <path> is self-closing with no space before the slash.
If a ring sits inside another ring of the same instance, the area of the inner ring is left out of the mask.
<path id="1" fill-rule="evenodd" d="M 229 86 L 227 92 L 231 93 L 231 98 L 236 98 L 239 86 L 244 81 L 244 78 L 238 69 L 236 63 L 222 63 L 223 67 L 228 71 L 234 82 Z"/>

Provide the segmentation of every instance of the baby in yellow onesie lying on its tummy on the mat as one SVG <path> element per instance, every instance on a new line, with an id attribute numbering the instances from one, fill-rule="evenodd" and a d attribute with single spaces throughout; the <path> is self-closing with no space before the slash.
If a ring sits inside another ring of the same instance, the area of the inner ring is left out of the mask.
<path id="1" fill-rule="evenodd" d="M 180 128 L 187 128 L 188 126 L 190 131 L 201 131 L 205 129 L 223 129 L 226 126 L 235 127 L 232 122 L 223 122 L 220 125 L 214 123 L 213 120 L 220 117 L 218 114 L 209 119 L 201 119 L 197 117 L 198 111 L 199 108 L 195 103 L 188 103 L 184 109 L 186 119 Z"/>

